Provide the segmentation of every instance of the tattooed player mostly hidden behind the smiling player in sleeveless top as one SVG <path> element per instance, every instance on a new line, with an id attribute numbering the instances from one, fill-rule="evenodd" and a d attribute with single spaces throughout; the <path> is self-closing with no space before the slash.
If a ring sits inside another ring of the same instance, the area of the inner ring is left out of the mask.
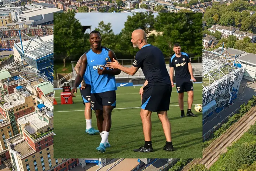
<path id="1" fill-rule="evenodd" d="M 79 58 L 75 66 L 76 74 L 78 74 L 79 68 L 81 66 L 81 57 Z M 84 109 L 84 116 L 86 121 L 85 132 L 89 135 L 94 135 L 99 131 L 92 128 L 91 126 L 91 74 L 89 73 L 89 70 L 85 71 L 85 74 L 83 76 L 83 81 L 79 85 L 79 89 L 80 89 L 83 103 L 85 105 L 85 109 Z"/>

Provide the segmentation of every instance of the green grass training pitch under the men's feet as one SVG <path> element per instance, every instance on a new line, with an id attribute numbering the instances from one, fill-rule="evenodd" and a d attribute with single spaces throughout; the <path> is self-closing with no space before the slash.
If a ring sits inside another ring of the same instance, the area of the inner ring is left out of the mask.
<path id="1" fill-rule="evenodd" d="M 202 103 L 202 85 L 194 84 L 194 102 Z M 192 112 L 198 117 L 180 118 L 178 93 L 173 88 L 170 108 L 167 112 L 172 126 L 172 142 L 175 151 L 162 150 L 165 135 L 161 122 L 152 113 L 152 153 L 136 153 L 133 149 L 144 145 L 140 118 L 140 87 L 119 87 L 116 91 L 116 108 L 112 112 L 112 126 L 109 134 L 110 148 L 105 153 L 97 152 L 100 135 L 85 134 L 85 118 L 80 92 L 73 98 L 74 104 L 60 104 L 60 93 L 56 90 L 54 106 L 54 158 L 201 158 L 202 157 L 202 112 Z M 79 90 L 78 90 L 79 91 Z M 184 94 L 184 111 L 187 110 L 187 94 Z M 120 109 L 122 108 L 122 109 Z M 123 109 L 126 108 L 126 109 Z M 92 126 L 97 129 L 96 116 L 92 111 Z"/>

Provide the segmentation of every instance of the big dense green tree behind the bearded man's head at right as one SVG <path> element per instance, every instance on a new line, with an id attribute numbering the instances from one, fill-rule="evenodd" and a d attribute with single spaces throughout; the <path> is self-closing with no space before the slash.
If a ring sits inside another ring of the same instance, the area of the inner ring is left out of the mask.
<path id="1" fill-rule="evenodd" d="M 169 56 L 174 43 L 180 43 L 185 52 L 201 55 L 202 22 L 202 13 L 159 13 L 154 25 L 156 31 L 163 33 L 158 47 Z"/>

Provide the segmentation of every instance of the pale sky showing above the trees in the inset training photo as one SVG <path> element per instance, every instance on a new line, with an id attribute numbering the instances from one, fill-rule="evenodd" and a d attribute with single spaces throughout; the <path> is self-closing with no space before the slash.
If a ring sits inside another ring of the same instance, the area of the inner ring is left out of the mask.
<path id="1" fill-rule="evenodd" d="M 119 34 L 124 28 L 124 22 L 126 22 L 128 15 L 133 13 L 76 13 L 75 18 L 78 19 L 82 26 L 91 26 L 91 30 L 98 27 L 98 23 L 104 21 L 105 24 L 111 23 L 111 29 L 115 34 Z M 156 16 L 157 13 L 154 13 Z M 86 32 L 90 32 L 89 29 Z"/>

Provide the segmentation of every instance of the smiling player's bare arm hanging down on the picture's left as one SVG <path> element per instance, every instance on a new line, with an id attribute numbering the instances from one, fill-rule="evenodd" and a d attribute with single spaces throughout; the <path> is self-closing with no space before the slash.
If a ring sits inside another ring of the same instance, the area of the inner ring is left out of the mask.
<path id="1" fill-rule="evenodd" d="M 77 87 L 79 86 L 79 84 L 83 80 L 83 75 L 85 73 L 86 67 L 87 67 L 87 57 L 86 57 L 86 54 L 83 54 L 82 57 L 81 57 L 81 66 L 80 66 L 80 69 L 79 69 L 78 74 L 76 76 L 76 80 L 75 80 L 73 89 L 71 90 L 71 95 L 73 97 L 76 97 L 76 96 L 74 96 L 73 93 L 77 92 Z"/>

